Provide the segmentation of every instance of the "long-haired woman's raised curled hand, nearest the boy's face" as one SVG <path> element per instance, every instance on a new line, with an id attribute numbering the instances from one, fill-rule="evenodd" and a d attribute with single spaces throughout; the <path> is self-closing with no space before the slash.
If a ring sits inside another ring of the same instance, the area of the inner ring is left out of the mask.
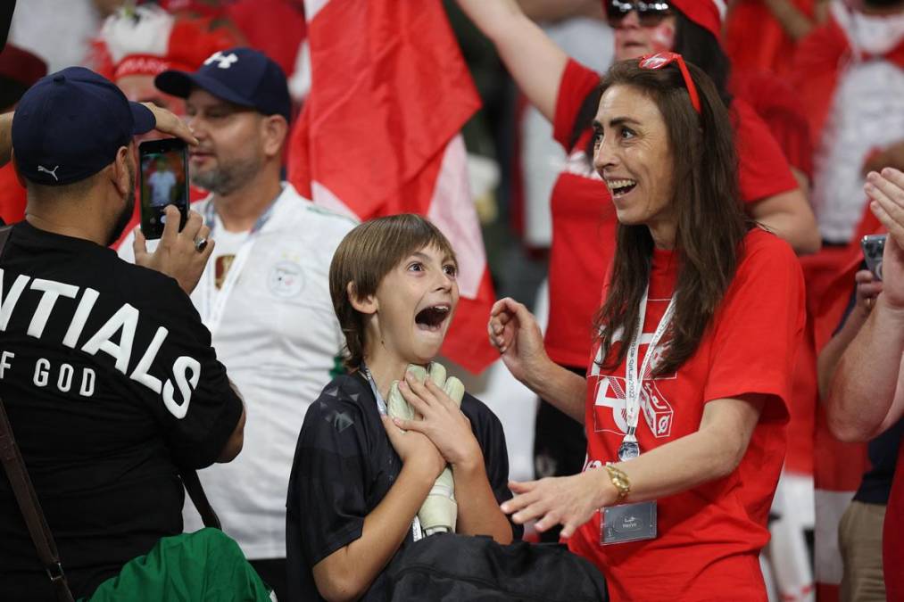
<path id="1" fill-rule="evenodd" d="M 495 302 L 486 331 L 490 344 L 502 354 L 505 367 L 519 381 L 527 381 L 550 362 L 536 318 L 510 297 Z"/>

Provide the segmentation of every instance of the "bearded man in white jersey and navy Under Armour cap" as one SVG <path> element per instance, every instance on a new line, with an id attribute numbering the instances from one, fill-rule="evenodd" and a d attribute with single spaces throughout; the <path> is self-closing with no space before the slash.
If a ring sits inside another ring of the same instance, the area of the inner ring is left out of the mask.
<path id="1" fill-rule="evenodd" d="M 155 84 L 186 100 L 198 138 L 189 174 L 211 193 L 193 205 L 217 248 L 192 300 L 254 416 L 245 453 L 201 480 L 223 529 L 282 598 L 292 455 L 308 405 L 341 365 L 327 276 L 354 223 L 281 181 L 291 104 L 285 75 L 264 54 L 214 52 L 197 71 L 164 71 Z M 129 240 L 119 252 L 130 258 Z M 185 519 L 200 526 L 191 508 Z"/>

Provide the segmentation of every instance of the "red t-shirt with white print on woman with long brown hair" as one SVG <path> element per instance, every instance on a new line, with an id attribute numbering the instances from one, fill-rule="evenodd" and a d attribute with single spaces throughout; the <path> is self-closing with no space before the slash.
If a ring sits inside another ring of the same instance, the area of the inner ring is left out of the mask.
<path id="1" fill-rule="evenodd" d="M 696 432 L 708 401 L 761 393 L 767 404 L 734 472 L 658 500 L 655 539 L 600 545 L 599 513 L 570 539 L 570 550 L 605 574 L 614 601 L 767 599 L 758 554 L 768 541 L 767 516 L 785 457 L 786 404 L 805 324 L 804 279 L 794 251 L 775 235 L 751 230 L 743 244 L 696 353 L 677 372 L 643 381 L 641 453 Z M 644 334 L 664 314 L 677 263 L 673 251 L 654 250 Z M 638 365 L 645 353 L 646 341 Z M 617 461 L 626 430 L 625 362 L 600 372 L 594 363 L 588 377 L 588 468 Z"/>

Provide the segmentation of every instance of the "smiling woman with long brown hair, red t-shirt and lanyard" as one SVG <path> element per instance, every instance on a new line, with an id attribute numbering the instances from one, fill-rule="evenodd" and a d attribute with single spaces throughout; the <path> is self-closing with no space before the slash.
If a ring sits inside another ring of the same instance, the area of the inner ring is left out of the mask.
<path id="1" fill-rule="evenodd" d="M 515 522 L 562 524 L 613 600 L 765 601 L 759 551 L 804 328 L 793 250 L 745 215 L 730 114 L 680 55 L 616 63 L 593 121 L 617 246 L 587 379 L 494 306 L 513 375 L 588 434 L 579 475 L 512 484 Z"/>

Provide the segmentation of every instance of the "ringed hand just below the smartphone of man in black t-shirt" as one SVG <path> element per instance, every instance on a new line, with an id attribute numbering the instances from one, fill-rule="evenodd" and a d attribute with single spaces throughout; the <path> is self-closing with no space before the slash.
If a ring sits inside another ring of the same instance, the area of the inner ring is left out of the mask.
<path id="1" fill-rule="evenodd" d="M 211 229 L 198 212 L 189 212 L 185 227 L 179 231 L 179 210 L 174 205 L 165 209 L 166 224 L 160 244 L 153 253 L 146 248 L 145 235 L 135 230 L 135 263 L 174 278 L 186 295 L 191 295 L 213 253 L 214 241 L 208 240 Z"/>

